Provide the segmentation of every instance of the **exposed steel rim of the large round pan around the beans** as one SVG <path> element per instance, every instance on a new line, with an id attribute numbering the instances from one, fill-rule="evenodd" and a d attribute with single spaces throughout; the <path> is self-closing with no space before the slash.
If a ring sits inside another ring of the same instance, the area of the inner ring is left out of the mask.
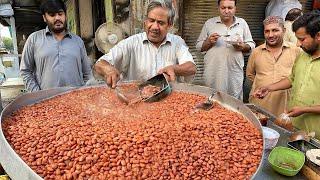
<path id="1" fill-rule="evenodd" d="M 184 91 L 184 92 L 192 92 L 198 93 L 205 96 L 210 96 L 212 89 L 191 85 L 191 84 L 182 84 L 182 83 L 174 83 L 171 84 L 172 89 L 174 91 Z M 101 85 L 99 85 L 101 86 Z M 99 86 L 91 86 L 91 87 L 99 87 Z M 4 137 L 2 131 L 2 122 L 5 116 L 10 115 L 12 112 L 16 111 L 17 109 L 31 105 L 42 100 L 52 98 L 54 96 L 68 93 L 70 91 L 74 91 L 76 89 L 84 89 L 84 88 L 91 88 L 91 87 L 82 87 L 82 88 L 72 88 L 72 87 L 62 87 L 62 88 L 55 88 L 49 90 L 42 90 L 33 93 L 26 93 L 19 97 L 17 97 L 12 103 L 10 103 L 1 113 L 1 129 L 0 129 L 0 163 L 7 172 L 7 174 L 12 179 L 42 179 L 38 174 L 36 174 L 11 148 L 9 143 L 7 142 L 6 138 Z M 225 106 L 226 108 L 236 111 L 246 118 L 259 130 L 262 134 L 262 128 L 259 120 L 254 116 L 254 114 L 250 111 L 248 107 L 246 107 L 241 101 L 221 92 L 217 92 L 215 96 L 215 100 L 218 101 L 220 104 Z M 177 104 L 178 106 L 178 104 Z M 265 143 L 263 142 L 263 145 Z M 252 179 L 257 175 L 257 172 L 262 168 L 262 160 L 263 160 L 264 152 L 261 156 L 260 164 L 252 176 Z"/>

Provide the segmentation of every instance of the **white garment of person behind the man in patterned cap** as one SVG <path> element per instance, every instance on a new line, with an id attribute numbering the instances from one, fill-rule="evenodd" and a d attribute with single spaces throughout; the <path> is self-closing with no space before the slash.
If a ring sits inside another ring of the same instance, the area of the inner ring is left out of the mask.
<path id="1" fill-rule="evenodd" d="M 271 0 L 266 7 L 265 15 L 266 17 L 280 16 L 285 20 L 288 12 L 294 8 L 302 8 L 298 0 Z"/>

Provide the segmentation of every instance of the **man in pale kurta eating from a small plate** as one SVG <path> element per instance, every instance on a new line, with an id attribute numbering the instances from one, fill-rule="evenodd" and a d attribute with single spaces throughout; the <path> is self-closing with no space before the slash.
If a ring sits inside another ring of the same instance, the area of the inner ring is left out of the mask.
<path id="1" fill-rule="evenodd" d="M 206 21 L 196 47 L 204 52 L 205 85 L 242 99 L 243 53 L 255 47 L 248 24 L 235 17 L 236 1 L 220 1 L 220 16 Z"/>

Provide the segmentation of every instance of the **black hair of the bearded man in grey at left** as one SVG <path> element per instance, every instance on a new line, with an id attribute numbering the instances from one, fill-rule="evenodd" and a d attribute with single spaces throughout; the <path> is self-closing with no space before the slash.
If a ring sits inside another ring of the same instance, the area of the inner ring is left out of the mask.
<path id="1" fill-rule="evenodd" d="M 66 5 L 62 0 L 47 0 L 40 5 L 41 14 L 58 13 L 63 10 L 66 13 Z"/>

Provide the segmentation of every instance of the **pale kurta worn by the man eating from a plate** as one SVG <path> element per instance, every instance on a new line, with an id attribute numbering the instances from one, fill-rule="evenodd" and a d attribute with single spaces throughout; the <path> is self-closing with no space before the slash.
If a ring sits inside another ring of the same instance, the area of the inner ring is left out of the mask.
<path id="1" fill-rule="evenodd" d="M 235 17 L 235 22 L 230 27 L 223 24 L 219 16 L 207 20 L 197 40 L 196 48 L 199 51 L 201 51 L 203 42 L 213 33 L 230 35 L 228 39 L 238 37 L 251 49 L 255 47 L 249 26 L 242 18 Z M 219 38 L 217 43 L 205 52 L 204 80 L 206 86 L 242 99 L 243 66 L 243 53 L 227 44 L 223 37 Z"/>

